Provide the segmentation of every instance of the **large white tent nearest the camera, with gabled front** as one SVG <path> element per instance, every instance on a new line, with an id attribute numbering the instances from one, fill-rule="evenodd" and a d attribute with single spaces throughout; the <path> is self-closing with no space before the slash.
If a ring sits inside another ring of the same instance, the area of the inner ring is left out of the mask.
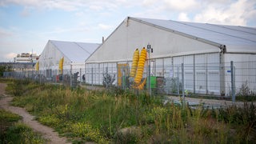
<path id="1" fill-rule="evenodd" d="M 255 28 L 130 17 L 86 59 L 87 82 L 101 84 L 106 67 L 111 67 L 108 71 L 113 74 L 122 75 L 118 74 L 118 65 L 131 66 L 134 50 L 148 44 L 154 49 L 150 63 L 155 76 L 181 78 L 177 66 L 186 65 L 186 90 L 203 94 L 229 93 L 230 61 L 253 62 L 254 69 L 246 73 L 254 76 L 237 78 L 236 86 L 250 82 L 256 90 Z M 244 74 L 249 68 L 241 63 L 236 66 L 239 67 L 237 74 Z M 93 71 L 98 67 L 98 71 Z"/>

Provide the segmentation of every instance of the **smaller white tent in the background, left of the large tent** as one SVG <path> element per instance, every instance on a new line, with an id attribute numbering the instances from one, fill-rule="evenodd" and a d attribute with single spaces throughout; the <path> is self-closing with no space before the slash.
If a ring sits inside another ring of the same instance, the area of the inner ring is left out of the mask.
<path id="1" fill-rule="evenodd" d="M 73 73 L 84 70 L 84 61 L 97 49 L 97 43 L 62 42 L 49 40 L 38 60 L 39 70 L 47 71 L 50 75 L 58 74 L 59 62 L 64 58 L 63 72 Z M 49 72 L 48 72 L 49 71 Z"/>

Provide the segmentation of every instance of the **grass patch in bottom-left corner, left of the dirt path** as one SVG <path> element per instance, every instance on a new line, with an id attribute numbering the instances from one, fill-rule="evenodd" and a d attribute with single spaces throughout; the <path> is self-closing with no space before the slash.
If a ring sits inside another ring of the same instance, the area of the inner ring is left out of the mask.
<path id="1" fill-rule="evenodd" d="M 46 143 L 41 134 L 34 132 L 29 126 L 18 122 L 21 117 L 0 109 L 0 143 Z"/>

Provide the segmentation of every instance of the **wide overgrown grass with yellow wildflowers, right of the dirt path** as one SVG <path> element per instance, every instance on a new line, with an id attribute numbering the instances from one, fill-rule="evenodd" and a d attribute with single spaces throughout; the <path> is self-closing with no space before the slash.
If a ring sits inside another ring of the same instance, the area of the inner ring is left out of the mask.
<path id="1" fill-rule="evenodd" d="M 19 85 L 18 82 L 17 85 Z M 70 89 L 29 82 L 15 92 L 15 106 L 74 143 L 254 143 L 256 108 L 206 109 L 163 105 L 161 98 L 127 90 Z"/>

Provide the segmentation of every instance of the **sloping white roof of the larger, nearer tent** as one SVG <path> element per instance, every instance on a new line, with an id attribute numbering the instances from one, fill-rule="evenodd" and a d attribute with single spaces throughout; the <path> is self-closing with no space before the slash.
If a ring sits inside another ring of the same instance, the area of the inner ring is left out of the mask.
<path id="1" fill-rule="evenodd" d="M 202 42 L 208 42 L 212 45 L 226 46 L 226 52 L 256 53 L 256 28 L 253 27 L 177 22 L 150 18 L 130 19 Z"/>

